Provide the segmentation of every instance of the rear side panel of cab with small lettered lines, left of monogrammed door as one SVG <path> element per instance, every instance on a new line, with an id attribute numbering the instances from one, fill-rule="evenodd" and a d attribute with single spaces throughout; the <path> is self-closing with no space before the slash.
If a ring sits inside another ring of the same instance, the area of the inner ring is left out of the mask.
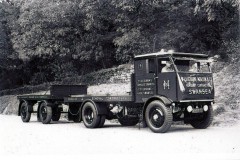
<path id="1" fill-rule="evenodd" d="M 134 62 L 135 73 L 135 102 L 146 102 L 157 94 L 156 59 L 142 59 Z"/>

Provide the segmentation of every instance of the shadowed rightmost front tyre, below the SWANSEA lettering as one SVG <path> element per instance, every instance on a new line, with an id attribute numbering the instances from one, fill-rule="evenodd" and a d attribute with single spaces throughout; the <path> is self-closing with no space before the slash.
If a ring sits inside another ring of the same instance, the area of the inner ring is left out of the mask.
<path id="1" fill-rule="evenodd" d="M 210 126 L 213 121 L 213 108 L 212 105 L 209 105 L 207 112 L 203 113 L 203 118 L 201 120 L 191 121 L 190 124 L 196 129 L 206 129 Z"/>

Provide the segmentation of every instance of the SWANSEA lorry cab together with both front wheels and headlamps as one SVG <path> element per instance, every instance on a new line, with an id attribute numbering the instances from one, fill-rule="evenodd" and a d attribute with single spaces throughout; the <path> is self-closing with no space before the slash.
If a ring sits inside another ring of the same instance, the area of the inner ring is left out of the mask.
<path id="1" fill-rule="evenodd" d="M 143 119 L 157 133 L 172 121 L 205 129 L 213 120 L 214 86 L 205 54 L 158 52 L 135 56 L 134 100 Z"/>

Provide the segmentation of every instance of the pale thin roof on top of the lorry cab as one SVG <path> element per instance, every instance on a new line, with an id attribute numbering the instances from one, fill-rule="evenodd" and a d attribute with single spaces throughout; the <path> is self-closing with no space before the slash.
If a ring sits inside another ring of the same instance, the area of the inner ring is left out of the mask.
<path id="1" fill-rule="evenodd" d="M 207 59 L 208 55 L 206 54 L 199 54 L 199 53 L 182 53 L 182 52 L 165 52 L 160 51 L 156 53 L 148 53 L 148 54 L 142 54 L 137 55 L 134 57 L 134 59 L 146 59 L 146 58 L 154 58 L 154 57 L 173 57 L 173 58 L 201 58 L 201 59 Z"/>

